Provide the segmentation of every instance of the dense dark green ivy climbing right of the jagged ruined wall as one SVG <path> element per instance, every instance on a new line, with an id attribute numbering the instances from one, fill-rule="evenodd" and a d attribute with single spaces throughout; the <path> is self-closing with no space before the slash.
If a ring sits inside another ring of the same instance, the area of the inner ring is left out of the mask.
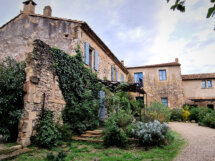
<path id="1" fill-rule="evenodd" d="M 71 57 L 59 49 L 52 49 L 59 84 L 66 107 L 63 121 L 75 133 L 83 133 L 99 124 L 98 93 L 101 83 L 97 75 L 84 66 L 80 49 Z"/>

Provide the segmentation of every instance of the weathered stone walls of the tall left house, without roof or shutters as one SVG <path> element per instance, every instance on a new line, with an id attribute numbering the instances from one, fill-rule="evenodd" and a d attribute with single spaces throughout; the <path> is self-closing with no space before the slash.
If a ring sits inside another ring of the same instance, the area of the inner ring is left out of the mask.
<path id="1" fill-rule="evenodd" d="M 127 74 L 113 61 L 87 32 L 84 32 L 78 21 L 71 21 L 60 18 L 44 17 L 42 15 L 20 14 L 7 25 L 0 28 L 0 60 L 11 56 L 18 61 L 25 60 L 25 51 L 28 43 L 40 39 L 51 47 L 57 47 L 70 55 L 75 54 L 78 45 L 84 56 L 84 43 L 99 52 L 100 79 L 111 80 L 111 65 L 118 69 L 118 80 L 121 81 L 121 74 L 127 80 Z"/>

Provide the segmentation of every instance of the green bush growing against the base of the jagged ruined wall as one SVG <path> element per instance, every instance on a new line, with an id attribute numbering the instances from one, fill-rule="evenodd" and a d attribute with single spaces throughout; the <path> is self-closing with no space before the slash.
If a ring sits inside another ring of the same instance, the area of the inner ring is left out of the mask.
<path id="1" fill-rule="evenodd" d="M 59 144 L 62 136 L 55 126 L 53 118 L 52 111 L 42 110 L 36 126 L 36 135 L 31 138 L 38 147 L 51 149 Z"/>

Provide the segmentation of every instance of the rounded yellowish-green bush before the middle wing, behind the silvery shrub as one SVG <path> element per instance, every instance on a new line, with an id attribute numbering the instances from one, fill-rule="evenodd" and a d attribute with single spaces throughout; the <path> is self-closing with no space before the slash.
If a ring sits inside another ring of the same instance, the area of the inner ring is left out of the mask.
<path id="1" fill-rule="evenodd" d="M 158 120 L 159 122 L 169 122 L 171 116 L 170 109 L 165 105 L 154 102 L 150 107 L 145 108 L 145 118 L 146 122 Z"/>

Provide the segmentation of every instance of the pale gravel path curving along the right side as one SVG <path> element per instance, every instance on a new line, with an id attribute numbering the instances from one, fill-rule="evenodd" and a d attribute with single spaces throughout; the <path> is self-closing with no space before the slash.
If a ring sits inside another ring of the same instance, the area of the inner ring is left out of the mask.
<path id="1" fill-rule="evenodd" d="M 215 161 L 215 129 L 195 123 L 171 122 L 169 126 L 187 142 L 174 161 Z"/>

